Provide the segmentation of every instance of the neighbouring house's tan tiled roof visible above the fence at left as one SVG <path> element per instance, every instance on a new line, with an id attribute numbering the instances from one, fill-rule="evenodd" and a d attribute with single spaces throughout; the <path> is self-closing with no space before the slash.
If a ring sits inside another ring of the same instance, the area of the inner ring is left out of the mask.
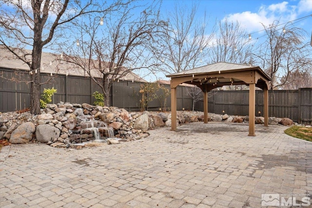
<path id="1" fill-rule="evenodd" d="M 15 53 L 20 56 L 25 56 L 26 60 L 31 61 L 31 50 L 13 48 Z M 80 58 L 81 59 L 81 58 Z M 82 59 L 83 60 L 83 59 Z M 29 66 L 13 53 L 11 53 L 5 46 L 0 45 L 0 67 L 6 69 L 30 71 Z M 126 68 L 125 68 L 126 69 Z M 94 77 L 101 77 L 101 73 L 97 68 L 90 69 L 91 75 Z M 60 58 L 60 55 L 42 52 L 41 54 L 41 68 L 40 73 L 46 74 L 59 74 L 59 75 L 72 75 L 72 76 L 88 76 L 87 73 L 75 63 L 69 61 L 67 56 Z M 117 76 L 118 78 L 118 76 Z M 126 76 L 120 77 L 122 80 L 134 80 L 146 82 L 133 72 L 129 72 Z"/>

